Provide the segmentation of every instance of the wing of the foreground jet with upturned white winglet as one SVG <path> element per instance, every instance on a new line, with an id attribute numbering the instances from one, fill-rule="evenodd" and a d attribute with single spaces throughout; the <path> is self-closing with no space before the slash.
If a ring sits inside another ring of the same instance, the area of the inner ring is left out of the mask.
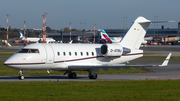
<path id="1" fill-rule="evenodd" d="M 167 66 L 168 62 L 170 60 L 172 53 L 169 53 L 169 55 L 166 57 L 164 62 L 161 65 L 125 65 L 125 64 L 114 64 L 114 65 L 70 65 L 68 68 L 70 70 L 94 70 L 96 72 L 99 72 L 99 70 L 102 68 L 104 71 L 108 71 L 109 68 L 113 68 L 115 70 L 119 70 L 120 68 L 129 69 L 131 67 L 134 68 L 141 68 L 141 67 L 163 67 Z"/>

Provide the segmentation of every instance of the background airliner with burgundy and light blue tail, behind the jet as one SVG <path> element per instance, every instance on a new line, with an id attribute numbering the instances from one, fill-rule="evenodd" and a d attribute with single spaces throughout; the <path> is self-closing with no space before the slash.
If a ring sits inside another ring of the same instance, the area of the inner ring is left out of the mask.
<path id="1" fill-rule="evenodd" d="M 101 30 L 101 40 L 109 43 L 119 43 L 122 37 L 109 37 L 108 34 L 102 29 Z M 147 43 L 145 39 L 142 41 L 143 44 Z"/>

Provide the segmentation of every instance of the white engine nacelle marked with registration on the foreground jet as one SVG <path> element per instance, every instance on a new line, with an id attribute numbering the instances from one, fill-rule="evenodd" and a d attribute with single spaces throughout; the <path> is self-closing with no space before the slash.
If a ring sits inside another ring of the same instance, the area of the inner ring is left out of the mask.
<path id="1" fill-rule="evenodd" d="M 102 45 L 100 53 L 103 56 L 121 56 L 123 54 L 123 48 L 119 44 Z"/>

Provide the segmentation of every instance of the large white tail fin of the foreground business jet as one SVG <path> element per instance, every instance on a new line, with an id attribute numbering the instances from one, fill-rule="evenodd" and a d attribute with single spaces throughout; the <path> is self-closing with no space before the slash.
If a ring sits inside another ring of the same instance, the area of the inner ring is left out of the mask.
<path id="1" fill-rule="evenodd" d="M 129 49 L 139 49 L 150 23 L 150 20 L 138 17 L 121 40 L 121 45 Z"/>

